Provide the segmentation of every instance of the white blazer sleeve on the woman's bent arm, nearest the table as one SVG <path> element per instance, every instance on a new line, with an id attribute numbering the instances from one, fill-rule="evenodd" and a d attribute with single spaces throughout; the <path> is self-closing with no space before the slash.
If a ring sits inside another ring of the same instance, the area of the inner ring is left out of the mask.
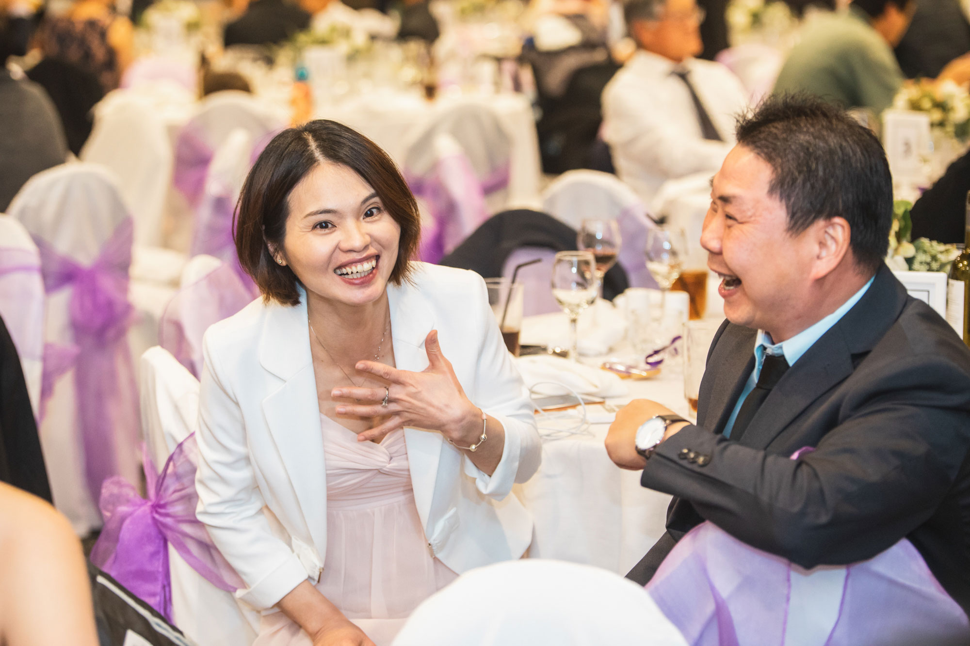
<path id="1" fill-rule="evenodd" d="M 512 491 L 513 484 L 525 482 L 539 468 L 542 444 L 529 390 L 505 348 L 499 325 L 488 307 L 485 281 L 475 277 L 472 302 L 477 312 L 474 316 L 485 321 L 485 326 L 475 354 L 475 391 L 469 393 L 469 400 L 499 421 L 505 432 L 505 445 L 499 466 L 491 476 L 475 467 L 467 451 L 462 451 L 462 461 L 465 473 L 475 479 L 478 491 L 501 501 Z"/>

